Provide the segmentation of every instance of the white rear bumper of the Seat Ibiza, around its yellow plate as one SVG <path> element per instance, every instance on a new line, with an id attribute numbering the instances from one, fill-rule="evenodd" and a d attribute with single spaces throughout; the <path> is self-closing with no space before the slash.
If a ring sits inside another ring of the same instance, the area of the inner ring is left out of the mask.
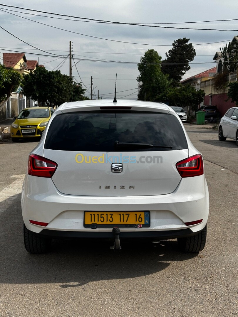
<path id="1" fill-rule="evenodd" d="M 112 228 L 85 228 L 84 211 L 150 211 L 150 227 L 120 228 L 123 237 L 189 236 L 208 220 L 209 196 L 204 175 L 182 179 L 176 190 L 154 196 L 73 196 L 60 193 L 52 179 L 26 175 L 22 191 L 23 221 L 28 230 L 56 237 L 112 237 Z M 201 223 L 185 223 L 203 219 Z M 46 227 L 29 220 L 48 223 Z M 116 226 L 116 225 L 115 225 Z"/>

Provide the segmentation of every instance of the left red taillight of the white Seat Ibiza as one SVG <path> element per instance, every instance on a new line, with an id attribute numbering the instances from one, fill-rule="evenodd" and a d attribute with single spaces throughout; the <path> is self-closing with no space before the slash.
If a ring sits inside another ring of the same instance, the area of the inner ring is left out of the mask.
<path id="1" fill-rule="evenodd" d="M 36 154 L 30 154 L 28 161 L 28 174 L 38 177 L 52 177 L 56 171 L 57 163 Z"/>

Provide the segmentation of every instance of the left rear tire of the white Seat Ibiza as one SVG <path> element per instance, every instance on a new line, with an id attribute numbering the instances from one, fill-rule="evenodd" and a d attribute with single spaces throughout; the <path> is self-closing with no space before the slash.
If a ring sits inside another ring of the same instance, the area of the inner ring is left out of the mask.
<path id="1" fill-rule="evenodd" d="M 24 224 L 24 245 L 27 252 L 41 254 L 50 251 L 51 239 L 43 238 L 39 234 L 28 230 Z"/>

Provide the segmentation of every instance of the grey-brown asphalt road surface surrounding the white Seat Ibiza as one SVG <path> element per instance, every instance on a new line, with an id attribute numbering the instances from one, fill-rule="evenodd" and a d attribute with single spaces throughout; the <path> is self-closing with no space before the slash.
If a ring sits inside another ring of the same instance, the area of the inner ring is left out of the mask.
<path id="1" fill-rule="evenodd" d="M 206 126 L 186 125 L 205 159 L 210 193 L 208 239 L 199 254 L 176 241 L 124 244 L 54 241 L 50 254 L 23 245 L 20 189 L 37 142 L 0 144 L 0 316 L 238 315 L 238 147 Z"/>

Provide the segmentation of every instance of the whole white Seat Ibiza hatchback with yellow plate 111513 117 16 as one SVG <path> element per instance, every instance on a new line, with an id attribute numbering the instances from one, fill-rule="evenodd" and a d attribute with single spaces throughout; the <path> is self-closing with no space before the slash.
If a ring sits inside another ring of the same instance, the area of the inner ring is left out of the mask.
<path id="1" fill-rule="evenodd" d="M 52 238 L 176 238 L 184 252 L 206 243 L 203 158 L 163 103 L 64 103 L 30 153 L 22 189 L 24 243 Z"/>

